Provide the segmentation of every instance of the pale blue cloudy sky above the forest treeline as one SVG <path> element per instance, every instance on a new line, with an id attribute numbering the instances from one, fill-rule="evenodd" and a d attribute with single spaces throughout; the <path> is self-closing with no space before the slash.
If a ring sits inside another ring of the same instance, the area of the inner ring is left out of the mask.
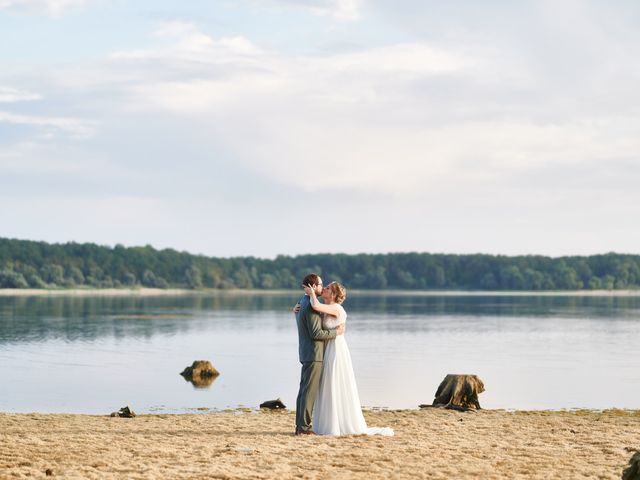
<path id="1" fill-rule="evenodd" d="M 0 0 L 0 237 L 640 253 L 636 0 Z"/>

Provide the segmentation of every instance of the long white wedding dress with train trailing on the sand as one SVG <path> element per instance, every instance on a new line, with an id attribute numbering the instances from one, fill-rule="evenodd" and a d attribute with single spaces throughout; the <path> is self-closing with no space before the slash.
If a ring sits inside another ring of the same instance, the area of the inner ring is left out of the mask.
<path id="1" fill-rule="evenodd" d="M 342 305 L 338 309 L 337 317 L 324 316 L 323 329 L 333 330 L 346 323 L 347 312 Z M 313 407 L 313 431 L 319 435 L 393 435 L 391 428 L 367 428 L 344 335 L 327 341 L 324 350 L 320 390 Z"/>

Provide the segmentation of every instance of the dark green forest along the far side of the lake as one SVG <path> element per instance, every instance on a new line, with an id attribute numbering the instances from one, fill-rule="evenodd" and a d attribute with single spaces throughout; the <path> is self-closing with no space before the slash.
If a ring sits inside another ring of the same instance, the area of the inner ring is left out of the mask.
<path id="1" fill-rule="evenodd" d="M 359 289 L 624 289 L 640 287 L 640 255 L 327 253 L 270 260 L 0 238 L 0 288 L 290 289 L 309 272 Z"/>

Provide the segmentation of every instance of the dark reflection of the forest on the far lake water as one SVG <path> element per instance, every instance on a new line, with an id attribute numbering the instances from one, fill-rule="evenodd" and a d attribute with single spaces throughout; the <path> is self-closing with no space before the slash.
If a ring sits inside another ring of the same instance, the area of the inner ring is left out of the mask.
<path id="1" fill-rule="evenodd" d="M 63 340 L 93 342 L 108 337 L 151 338 L 217 328 L 253 330 L 256 319 L 289 318 L 298 293 L 220 294 L 176 297 L 0 297 L 0 345 Z M 441 330 L 447 317 L 486 329 L 531 328 L 545 318 L 640 318 L 638 297 L 424 296 L 356 293 L 345 302 L 351 328 L 395 332 Z M 392 323 L 389 322 L 391 319 Z M 291 317 L 292 318 L 292 317 Z M 504 318 L 505 322 L 500 322 Z M 514 319 L 516 322 L 514 323 Z M 508 320 L 508 321 L 507 321 Z M 552 322 L 553 323 L 553 322 Z"/>

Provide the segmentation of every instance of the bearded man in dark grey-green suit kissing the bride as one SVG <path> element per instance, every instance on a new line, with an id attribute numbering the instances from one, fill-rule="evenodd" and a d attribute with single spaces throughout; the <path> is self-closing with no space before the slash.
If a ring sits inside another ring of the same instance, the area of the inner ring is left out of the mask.
<path id="1" fill-rule="evenodd" d="M 302 285 L 315 285 L 316 295 L 322 295 L 322 279 L 315 273 L 302 280 Z M 298 324 L 298 354 L 302 363 L 300 390 L 296 401 L 296 435 L 315 435 L 311 430 L 313 404 L 320 387 L 324 342 L 342 335 L 344 326 L 335 331 L 322 329 L 320 314 L 311 308 L 311 299 L 305 295 L 300 300 L 300 310 L 296 313 Z"/>

